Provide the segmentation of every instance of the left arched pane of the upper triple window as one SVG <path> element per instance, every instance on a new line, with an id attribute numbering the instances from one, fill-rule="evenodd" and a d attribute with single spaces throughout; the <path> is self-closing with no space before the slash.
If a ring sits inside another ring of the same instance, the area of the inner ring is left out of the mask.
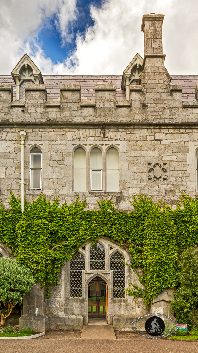
<path id="1" fill-rule="evenodd" d="M 86 152 L 81 147 L 74 152 L 74 190 L 86 191 Z"/>

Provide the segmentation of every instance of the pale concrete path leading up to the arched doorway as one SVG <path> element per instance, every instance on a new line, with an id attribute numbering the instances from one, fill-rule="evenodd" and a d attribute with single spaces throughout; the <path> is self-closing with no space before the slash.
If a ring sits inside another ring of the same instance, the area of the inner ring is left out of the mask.
<path id="1" fill-rule="evenodd" d="M 113 326 L 110 325 L 84 325 L 81 340 L 116 340 Z"/>

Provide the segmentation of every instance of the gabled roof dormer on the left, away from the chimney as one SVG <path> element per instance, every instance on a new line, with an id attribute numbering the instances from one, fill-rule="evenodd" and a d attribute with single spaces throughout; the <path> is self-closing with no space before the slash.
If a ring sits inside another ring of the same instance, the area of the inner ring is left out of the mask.
<path id="1" fill-rule="evenodd" d="M 17 86 L 17 100 L 25 99 L 26 84 L 43 84 L 41 71 L 27 54 L 20 59 L 11 74 Z"/>

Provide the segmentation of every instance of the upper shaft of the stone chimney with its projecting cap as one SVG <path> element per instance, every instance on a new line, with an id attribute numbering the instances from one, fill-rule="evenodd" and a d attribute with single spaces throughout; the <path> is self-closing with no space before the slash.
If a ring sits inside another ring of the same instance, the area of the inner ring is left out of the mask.
<path id="1" fill-rule="evenodd" d="M 143 15 L 141 31 L 144 32 L 144 55 L 163 53 L 162 52 L 163 19 L 164 19 L 164 15 L 156 15 L 156 14 Z"/>

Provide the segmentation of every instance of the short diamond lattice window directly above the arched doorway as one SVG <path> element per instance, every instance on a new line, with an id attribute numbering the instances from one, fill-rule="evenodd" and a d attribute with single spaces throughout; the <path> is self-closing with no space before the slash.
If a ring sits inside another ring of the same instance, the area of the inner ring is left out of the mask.
<path id="1" fill-rule="evenodd" d="M 91 246 L 89 264 L 90 270 L 105 270 L 105 249 L 101 244 L 95 243 L 95 248 Z"/>

